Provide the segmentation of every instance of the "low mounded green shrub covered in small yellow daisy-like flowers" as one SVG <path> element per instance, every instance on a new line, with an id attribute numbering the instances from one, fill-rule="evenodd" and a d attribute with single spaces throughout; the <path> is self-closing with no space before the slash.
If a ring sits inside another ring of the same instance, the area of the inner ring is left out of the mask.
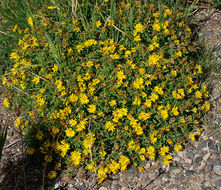
<path id="1" fill-rule="evenodd" d="M 2 77 L 27 153 L 41 153 L 50 179 L 62 165 L 99 183 L 145 160 L 169 165 L 210 109 L 185 15 L 142 1 L 80 4 L 74 20 L 58 11 L 28 18 Z"/>

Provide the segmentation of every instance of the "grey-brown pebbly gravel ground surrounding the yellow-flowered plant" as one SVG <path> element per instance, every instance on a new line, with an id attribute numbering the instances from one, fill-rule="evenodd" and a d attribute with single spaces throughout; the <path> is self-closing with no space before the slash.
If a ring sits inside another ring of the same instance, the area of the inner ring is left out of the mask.
<path id="1" fill-rule="evenodd" d="M 213 51 L 214 66 L 221 66 L 221 10 L 203 9 L 195 12 L 199 18 L 200 38 Z M 85 177 L 81 172 L 69 179 L 65 171 L 55 182 L 47 183 L 52 189 L 59 190 L 221 190 L 221 70 L 212 73 L 208 79 L 211 90 L 212 110 L 203 119 L 203 133 L 196 142 L 189 142 L 185 149 L 174 153 L 173 164 L 164 167 L 160 162 L 148 162 L 145 170 L 130 168 L 123 173 L 111 176 L 98 185 L 93 176 Z M 11 118 L 4 110 L 3 117 Z M 0 115 L 0 116 L 1 116 Z M 13 128 L 13 127 L 11 127 Z M 0 189 L 23 190 L 23 162 L 20 161 L 22 142 L 18 131 L 10 130 L 8 141 L 0 165 Z M 38 189 L 41 184 L 41 173 L 38 163 L 26 160 L 27 189 Z"/>

